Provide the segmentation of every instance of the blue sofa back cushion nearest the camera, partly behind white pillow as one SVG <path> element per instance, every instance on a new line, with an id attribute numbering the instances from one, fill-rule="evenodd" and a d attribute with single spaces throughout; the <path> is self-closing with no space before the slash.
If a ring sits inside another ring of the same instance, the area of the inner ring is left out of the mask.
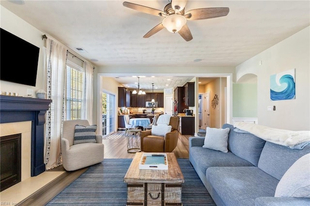
<path id="1" fill-rule="evenodd" d="M 282 145 L 266 142 L 258 167 L 265 173 L 280 180 L 294 162 L 308 153 L 310 153 L 310 145 L 303 149 L 290 149 Z"/>

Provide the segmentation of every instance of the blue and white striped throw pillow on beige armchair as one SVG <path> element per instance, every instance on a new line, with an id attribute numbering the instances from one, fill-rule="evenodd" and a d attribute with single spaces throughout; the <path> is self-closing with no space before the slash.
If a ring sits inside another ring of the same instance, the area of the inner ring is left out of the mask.
<path id="1" fill-rule="evenodd" d="M 73 144 L 80 143 L 96 143 L 96 130 L 97 125 L 82 126 L 76 125 L 74 130 Z"/>

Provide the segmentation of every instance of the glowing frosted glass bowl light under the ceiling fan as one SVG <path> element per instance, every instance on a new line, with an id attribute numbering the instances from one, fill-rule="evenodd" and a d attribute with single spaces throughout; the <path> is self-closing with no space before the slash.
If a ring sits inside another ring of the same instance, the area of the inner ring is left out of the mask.
<path id="1" fill-rule="evenodd" d="M 183 15 L 169 15 L 164 18 L 162 24 L 168 31 L 175 33 L 186 24 L 186 18 Z"/>

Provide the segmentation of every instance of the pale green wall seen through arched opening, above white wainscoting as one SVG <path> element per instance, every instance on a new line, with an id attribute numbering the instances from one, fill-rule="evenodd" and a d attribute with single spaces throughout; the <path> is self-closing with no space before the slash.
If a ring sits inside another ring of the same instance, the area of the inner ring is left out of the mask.
<path id="1" fill-rule="evenodd" d="M 257 84 L 233 84 L 233 118 L 257 118 Z"/>

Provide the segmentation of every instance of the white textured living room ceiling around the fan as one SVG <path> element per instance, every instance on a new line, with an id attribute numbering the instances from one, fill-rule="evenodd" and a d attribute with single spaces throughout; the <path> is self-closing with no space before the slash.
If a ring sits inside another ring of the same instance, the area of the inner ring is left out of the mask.
<path id="1" fill-rule="evenodd" d="M 128 1 L 161 11 L 169 3 Z M 126 8 L 123 0 L 26 0 L 23 5 L 1 0 L 0 4 L 96 66 L 236 66 L 310 25 L 309 0 L 188 0 L 185 11 L 229 7 L 230 12 L 188 20 L 193 40 L 186 42 L 166 29 L 143 38 L 163 18 Z"/>

